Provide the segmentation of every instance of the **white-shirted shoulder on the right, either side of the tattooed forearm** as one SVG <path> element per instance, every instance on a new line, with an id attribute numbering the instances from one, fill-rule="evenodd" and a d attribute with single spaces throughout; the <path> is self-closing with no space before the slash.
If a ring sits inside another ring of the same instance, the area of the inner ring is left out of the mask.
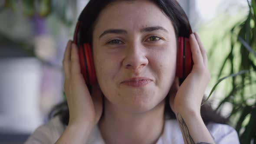
<path id="1" fill-rule="evenodd" d="M 227 124 L 209 123 L 206 125 L 216 144 L 240 144 L 238 134 Z M 183 143 L 181 129 L 176 119 L 165 121 L 163 138 L 172 143 Z"/>

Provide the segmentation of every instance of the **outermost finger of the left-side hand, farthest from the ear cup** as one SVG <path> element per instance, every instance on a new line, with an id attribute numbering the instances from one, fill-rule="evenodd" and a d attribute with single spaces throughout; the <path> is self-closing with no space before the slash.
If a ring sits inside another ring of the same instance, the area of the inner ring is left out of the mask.
<path id="1" fill-rule="evenodd" d="M 64 70 L 64 75 L 68 79 L 69 78 L 69 65 L 70 65 L 70 49 L 71 49 L 71 41 L 67 43 L 65 52 L 64 52 L 64 57 L 62 60 L 62 66 Z"/>

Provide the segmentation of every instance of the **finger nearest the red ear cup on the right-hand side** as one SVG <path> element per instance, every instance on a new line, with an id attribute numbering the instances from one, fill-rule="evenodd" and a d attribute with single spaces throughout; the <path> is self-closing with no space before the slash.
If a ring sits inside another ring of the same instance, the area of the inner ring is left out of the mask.
<path id="1" fill-rule="evenodd" d="M 197 43 L 197 39 L 193 33 L 190 34 L 189 41 L 194 65 L 203 65 L 203 56 L 201 54 L 200 47 Z"/>

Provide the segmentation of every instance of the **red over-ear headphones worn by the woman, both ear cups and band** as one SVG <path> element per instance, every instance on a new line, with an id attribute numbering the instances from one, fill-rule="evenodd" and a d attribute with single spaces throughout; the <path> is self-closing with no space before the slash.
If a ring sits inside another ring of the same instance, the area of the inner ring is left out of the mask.
<path id="1" fill-rule="evenodd" d="M 177 3 L 176 0 L 174 1 Z M 177 3 L 177 5 L 181 7 L 179 3 Z M 80 62 L 81 73 L 85 79 L 86 84 L 90 89 L 90 85 L 97 82 L 95 67 L 92 59 L 92 49 L 89 43 L 87 42 L 84 43 L 83 42 L 84 39 L 80 39 L 81 35 L 84 34 L 81 32 L 81 30 L 83 29 L 81 29 L 80 26 L 82 25 L 85 27 L 88 26 L 88 23 L 86 22 L 83 23 L 84 20 L 86 19 L 82 19 L 82 18 L 85 18 L 83 13 L 86 12 L 85 10 L 88 8 L 87 6 L 84 8 L 84 10 L 79 16 L 79 20 L 75 26 L 75 33 L 74 33 L 73 40 L 79 48 L 79 62 Z M 181 15 L 185 16 L 184 17 L 185 20 L 182 19 L 183 20 L 182 22 L 185 24 L 182 26 L 186 26 L 186 28 L 180 29 L 182 31 L 181 33 L 185 36 L 178 36 L 176 76 L 178 76 L 180 80 L 183 81 L 187 77 L 187 75 L 191 72 L 191 69 L 193 66 L 193 59 L 192 59 L 189 39 L 186 38 L 186 36 L 189 36 L 187 35 L 186 29 L 187 28 L 189 29 L 189 34 L 192 33 L 192 29 L 191 29 L 189 20 L 187 18 L 187 15 L 182 8 L 181 8 L 181 12 L 182 12 Z M 90 20 L 90 17 L 92 18 L 93 16 L 94 15 L 89 16 L 89 20 Z M 188 24 L 188 27 L 187 27 L 187 24 Z"/>

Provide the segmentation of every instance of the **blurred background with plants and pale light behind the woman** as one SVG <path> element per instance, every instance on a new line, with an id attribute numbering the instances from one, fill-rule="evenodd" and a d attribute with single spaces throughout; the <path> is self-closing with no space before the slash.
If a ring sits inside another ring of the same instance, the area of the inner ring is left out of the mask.
<path id="1" fill-rule="evenodd" d="M 63 101 L 62 57 L 88 1 L 0 0 L 0 144 L 22 144 Z M 256 144 L 255 1 L 178 0 L 207 50 L 209 101 L 241 144 Z"/>

